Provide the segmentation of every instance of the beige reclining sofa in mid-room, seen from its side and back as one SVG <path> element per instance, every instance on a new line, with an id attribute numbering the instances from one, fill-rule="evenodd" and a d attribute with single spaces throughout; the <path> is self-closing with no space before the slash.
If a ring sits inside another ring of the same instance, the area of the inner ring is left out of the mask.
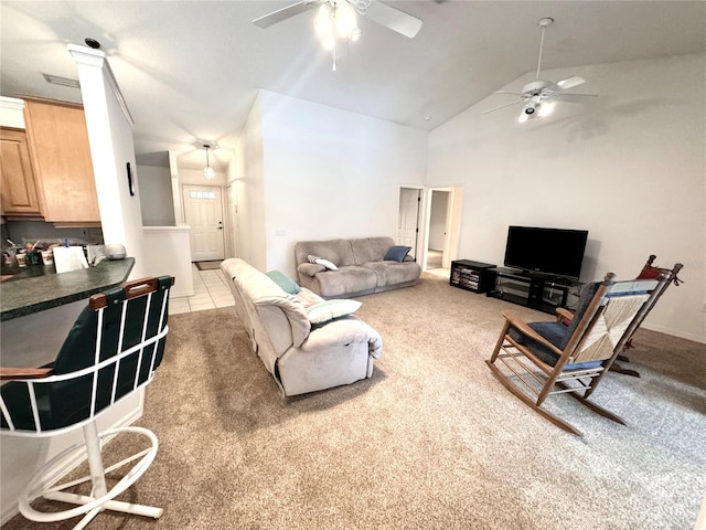
<path id="1" fill-rule="evenodd" d="M 312 325 L 308 310 L 324 300 L 302 287 L 291 295 L 243 259 L 221 264 L 235 309 L 265 368 L 285 396 L 371 378 L 383 341 L 355 316 Z M 352 301 L 352 300 L 346 300 Z M 324 304 L 325 305 L 325 304 Z"/>

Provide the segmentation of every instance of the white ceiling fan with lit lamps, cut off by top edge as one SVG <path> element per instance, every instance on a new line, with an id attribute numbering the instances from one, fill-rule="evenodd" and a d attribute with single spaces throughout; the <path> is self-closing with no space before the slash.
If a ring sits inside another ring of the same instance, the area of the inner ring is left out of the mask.
<path id="1" fill-rule="evenodd" d="M 313 8 L 319 8 L 314 28 L 324 49 L 332 52 L 334 71 L 336 41 L 357 41 L 361 36 L 356 14 L 409 39 L 414 39 L 421 28 L 421 19 L 379 0 L 302 0 L 258 17 L 253 23 L 259 28 L 269 28 Z"/>

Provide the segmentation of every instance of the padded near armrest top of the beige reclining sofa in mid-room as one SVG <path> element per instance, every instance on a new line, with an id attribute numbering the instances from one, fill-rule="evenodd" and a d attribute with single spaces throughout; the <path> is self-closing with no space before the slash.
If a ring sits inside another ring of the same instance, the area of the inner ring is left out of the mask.
<path id="1" fill-rule="evenodd" d="M 333 344 L 367 342 L 372 357 L 379 359 L 383 352 L 383 339 L 370 325 L 357 317 L 343 317 L 330 320 L 323 326 L 311 329 L 309 337 L 301 344 L 304 351 L 325 350 Z"/>

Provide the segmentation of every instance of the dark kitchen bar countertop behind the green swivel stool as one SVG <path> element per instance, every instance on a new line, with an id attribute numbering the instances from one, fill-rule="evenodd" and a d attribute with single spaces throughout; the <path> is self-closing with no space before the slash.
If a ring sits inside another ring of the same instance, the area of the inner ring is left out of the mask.
<path id="1" fill-rule="evenodd" d="M 55 274 L 53 265 L 28 271 L 0 283 L 0 321 L 88 298 L 125 282 L 133 257 L 100 262 L 96 267 Z"/>

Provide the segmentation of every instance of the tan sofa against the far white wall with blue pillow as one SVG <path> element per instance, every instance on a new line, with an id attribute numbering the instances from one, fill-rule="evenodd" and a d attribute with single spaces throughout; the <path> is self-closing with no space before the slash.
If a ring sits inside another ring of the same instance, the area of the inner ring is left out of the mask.
<path id="1" fill-rule="evenodd" d="M 352 298 L 415 285 L 421 267 L 411 256 L 403 262 L 385 261 L 393 246 L 392 237 L 300 241 L 295 244 L 299 284 L 324 298 Z M 309 263 L 308 256 L 328 259 L 338 271 Z"/>

